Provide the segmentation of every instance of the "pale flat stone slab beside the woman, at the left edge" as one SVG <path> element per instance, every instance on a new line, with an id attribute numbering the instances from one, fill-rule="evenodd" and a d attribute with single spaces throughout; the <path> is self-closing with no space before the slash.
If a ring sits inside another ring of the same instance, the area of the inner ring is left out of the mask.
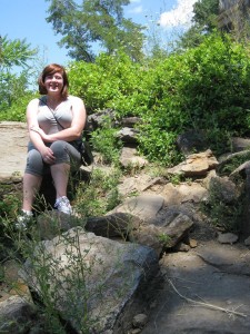
<path id="1" fill-rule="evenodd" d="M 18 121 L 0 121 L 0 179 L 22 176 L 29 141 L 27 125 Z"/>

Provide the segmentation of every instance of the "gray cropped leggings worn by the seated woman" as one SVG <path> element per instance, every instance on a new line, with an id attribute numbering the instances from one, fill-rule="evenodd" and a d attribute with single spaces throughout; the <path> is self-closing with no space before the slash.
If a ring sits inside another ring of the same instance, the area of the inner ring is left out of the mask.
<path id="1" fill-rule="evenodd" d="M 56 164 L 69 164 L 72 170 L 79 169 L 81 166 L 81 155 L 79 150 L 70 143 L 64 140 L 57 140 L 53 143 L 47 143 L 46 146 L 50 147 L 56 157 Z M 24 173 L 43 176 L 50 174 L 50 166 L 42 159 L 39 150 L 29 143 L 28 145 L 28 157 Z"/>

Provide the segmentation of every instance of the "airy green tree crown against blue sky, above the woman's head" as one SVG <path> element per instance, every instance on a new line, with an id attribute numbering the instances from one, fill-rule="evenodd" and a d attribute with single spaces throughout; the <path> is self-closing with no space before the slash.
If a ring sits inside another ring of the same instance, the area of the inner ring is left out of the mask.
<path id="1" fill-rule="evenodd" d="M 108 55 L 122 48 L 131 59 L 142 58 L 143 27 L 123 18 L 128 0 L 47 1 L 51 3 L 47 21 L 63 36 L 59 45 L 69 49 L 71 58 L 93 61 L 97 45 Z"/>

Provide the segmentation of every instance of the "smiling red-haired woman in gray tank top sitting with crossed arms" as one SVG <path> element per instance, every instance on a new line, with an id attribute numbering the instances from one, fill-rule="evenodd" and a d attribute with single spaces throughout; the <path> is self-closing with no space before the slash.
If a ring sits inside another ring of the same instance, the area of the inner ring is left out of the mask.
<path id="1" fill-rule="evenodd" d="M 68 95 L 69 81 L 62 66 L 47 66 L 39 78 L 41 98 L 32 99 L 27 107 L 30 135 L 27 166 L 23 176 L 22 215 L 18 224 L 26 225 L 32 216 L 32 205 L 42 177 L 51 173 L 56 187 L 54 208 L 72 214 L 67 198 L 70 168 L 79 168 L 81 155 L 76 145 L 86 124 L 83 101 Z M 24 227 L 24 226 L 23 226 Z"/>

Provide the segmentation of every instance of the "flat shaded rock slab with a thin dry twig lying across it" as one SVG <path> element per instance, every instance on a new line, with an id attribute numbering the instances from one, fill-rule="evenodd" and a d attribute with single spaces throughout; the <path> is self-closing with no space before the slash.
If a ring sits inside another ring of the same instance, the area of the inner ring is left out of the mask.
<path id="1" fill-rule="evenodd" d="M 211 243 L 167 254 L 161 262 L 164 284 L 141 333 L 248 334 L 250 276 L 243 271 L 248 252 Z"/>

